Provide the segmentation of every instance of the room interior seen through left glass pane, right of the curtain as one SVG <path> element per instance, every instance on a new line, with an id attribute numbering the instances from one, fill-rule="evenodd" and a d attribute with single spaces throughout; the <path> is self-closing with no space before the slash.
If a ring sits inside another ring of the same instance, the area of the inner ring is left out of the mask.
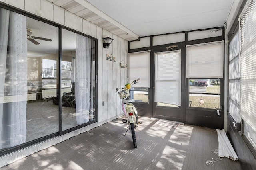
<path id="1" fill-rule="evenodd" d="M 52 41 L 34 39 L 28 45 L 28 81 L 35 90 L 35 98 L 27 101 L 26 142 L 58 132 L 57 60 L 58 28 L 27 17 L 31 36 L 49 38 Z M 50 30 L 50 31 L 49 31 Z M 36 74 L 34 74 L 36 73 Z"/>

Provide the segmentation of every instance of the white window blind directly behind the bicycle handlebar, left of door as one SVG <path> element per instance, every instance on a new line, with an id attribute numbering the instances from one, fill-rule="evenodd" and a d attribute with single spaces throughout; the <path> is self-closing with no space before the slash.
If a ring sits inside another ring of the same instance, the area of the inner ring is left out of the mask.
<path id="1" fill-rule="evenodd" d="M 140 78 L 132 87 L 150 88 L 150 51 L 128 54 L 129 82 Z"/>

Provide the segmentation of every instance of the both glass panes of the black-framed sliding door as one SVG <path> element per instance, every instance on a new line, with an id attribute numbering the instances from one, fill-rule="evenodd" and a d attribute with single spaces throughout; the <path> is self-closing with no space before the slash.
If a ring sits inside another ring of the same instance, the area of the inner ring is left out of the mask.
<path id="1" fill-rule="evenodd" d="M 20 46 L 27 50 L 1 51 L 6 66 L 1 67 L 0 150 L 58 132 L 59 108 L 62 131 L 94 121 L 95 41 L 62 29 L 59 62 L 58 27 L 8 10 L 5 14 L 14 15 L 14 20 L 10 17 L 6 23 L 9 34 L 3 42 L 13 43 L 18 41 L 15 35 L 21 35 Z M 21 27 L 13 29 L 15 24 Z"/>

